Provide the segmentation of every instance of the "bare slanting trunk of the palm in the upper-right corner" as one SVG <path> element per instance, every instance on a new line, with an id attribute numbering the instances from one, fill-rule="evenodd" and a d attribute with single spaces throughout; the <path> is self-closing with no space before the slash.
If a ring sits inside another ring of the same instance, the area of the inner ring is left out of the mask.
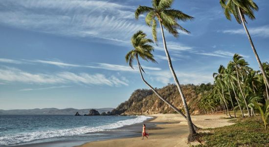
<path id="1" fill-rule="evenodd" d="M 256 60 L 257 60 L 257 62 L 258 62 L 258 64 L 259 64 L 259 67 L 260 67 L 260 69 L 261 69 L 261 71 L 262 71 L 262 73 L 263 73 L 263 76 L 264 76 L 264 79 L 265 79 L 265 81 L 266 81 L 266 84 L 267 84 L 267 86 L 269 86 L 269 80 L 268 80 L 268 78 L 267 78 L 267 76 L 266 76 L 266 73 L 265 73 L 265 71 L 264 71 L 263 65 L 262 65 L 262 63 L 261 63 L 261 60 L 260 60 L 260 58 L 259 58 L 259 56 L 258 56 L 258 53 L 257 53 L 257 51 L 256 51 L 256 49 L 255 49 L 255 47 L 254 47 L 254 44 L 253 44 L 253 42 L 252 42 L 252 39 L 251 39 L 250 35 L 249 35 L 249 32 L 248 32 L 248 30 L 247 30 L 247 26 L 246 26 L 246 24 L 245 24 L 245 18 L 243 18 L 241 9 L 240 9 L 239 7 L 238 7 L 238 11 L 239 11 L 239 14 L 240 14 L 240 17 L 241 17 L 242 24 L 243 24 L 243 26 L 244 26 L 244 28 L 245 28 L 245 30 L 246 30 L 247 37 L 248 37 L 249 43 L 250 43 L 250 45 L 251 45 L 251 48 L 252 48 L 252 50 L 253 50 L 253 52 L 254 52 L 254 55 L 255 55 Z"/>

